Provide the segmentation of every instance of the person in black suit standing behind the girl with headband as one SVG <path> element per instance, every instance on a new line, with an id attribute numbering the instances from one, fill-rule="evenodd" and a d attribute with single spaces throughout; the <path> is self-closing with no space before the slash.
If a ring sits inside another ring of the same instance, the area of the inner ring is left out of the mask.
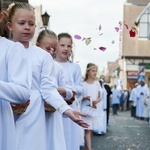
<path id="1" fill-rule="evenodd" d="M 107 109 L 106 109 L 107 119 L 106 119 L 106 121 L 107 121 L 107 125 L 108 125 L 109 112 L 110 112 L 110 95 L 112 94 L 112 91 L 111 91 L 110 86 L 108 84 L 106 84 L 106 82 L 105 82 L 105 76 L 101 75 L 100 79 L 103 79 L 103 86 L 104 86 L 104 88 L 106 89 L 106 92 L 107 92 Z"/>

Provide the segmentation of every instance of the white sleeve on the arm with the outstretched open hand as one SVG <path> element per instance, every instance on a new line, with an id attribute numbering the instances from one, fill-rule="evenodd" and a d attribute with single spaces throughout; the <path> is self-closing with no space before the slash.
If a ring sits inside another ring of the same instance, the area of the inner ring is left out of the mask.
<path id="1" fill-rule="evenodd" d="M 63 113 L 67 109 L 71 109 L 70 106 L 64 101 L 61 95 L 58 93 L 54 77 L 54 62 L 52 57 L 47 53 L 43 60 L 43 66 L 41 70 L 41 85 L 40 91 L 42 98 L 60 113 Z"/>

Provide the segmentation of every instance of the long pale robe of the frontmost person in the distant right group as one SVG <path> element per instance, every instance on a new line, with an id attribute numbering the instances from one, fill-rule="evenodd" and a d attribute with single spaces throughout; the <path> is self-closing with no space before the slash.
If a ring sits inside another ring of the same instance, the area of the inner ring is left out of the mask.
<path id="1" fill-rule="evenodd" d="M 137 93 L 136 93 L 137 95 L 136 116 L 137 117 L 143 117 L 145 106 L 142 100 L 146 97 L 147 91 L 148 90 L 146 86 L 139 85 L 137 87 Z M 143 93 L 143 95 L 141 95 L 141 93 Z"/>

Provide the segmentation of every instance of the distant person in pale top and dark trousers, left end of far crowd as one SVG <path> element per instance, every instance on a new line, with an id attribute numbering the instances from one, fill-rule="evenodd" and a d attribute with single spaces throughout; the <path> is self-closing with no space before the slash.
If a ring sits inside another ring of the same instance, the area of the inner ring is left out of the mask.
<path id="1" fill-rule="evenodd" d="M 111 103 L 112 103 L 112 110 L 113 115 L 117 115 L 118 106 L 120 103 L 120 91 L 116 88 L 117 86 L 114 85 L 114 88 L 112 89 L 112 97 L 111 97 Z"/>

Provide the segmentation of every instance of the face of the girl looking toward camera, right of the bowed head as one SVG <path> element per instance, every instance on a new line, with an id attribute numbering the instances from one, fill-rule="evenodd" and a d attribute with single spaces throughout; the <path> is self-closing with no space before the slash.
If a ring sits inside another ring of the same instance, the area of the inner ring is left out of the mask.
<path id="1" fill-rule="evenodd" d="M 61 61 L 67 61 L 72 52 L 72 41 L 70 38 L 63 37 L 58 41 L 56 49 L 56 58 Z"/>

